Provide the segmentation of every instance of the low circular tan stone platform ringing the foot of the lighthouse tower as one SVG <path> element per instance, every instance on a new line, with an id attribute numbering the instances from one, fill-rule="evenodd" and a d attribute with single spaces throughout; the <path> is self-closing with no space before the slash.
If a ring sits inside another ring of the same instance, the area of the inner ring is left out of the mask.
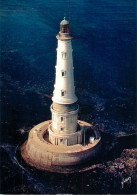
<path id="1" fill-rule="evenodd" d="M 73 146 L 56 146 L 51 144 L 44 135 L 48 133 L 51 121 L 45 121 L 36 125 L 29 132 L 28 140 L 21 146 L 21 155 L 26 163 L 37 169 L 67 172 L 65 167 L 73 167 L 95 158 L 101 149 L 101 137 L 99 132 L 94 131 L 94 142 L 76 144 Z M 84 121 L 78 121 L 85 129 L 92 127 Z"/>

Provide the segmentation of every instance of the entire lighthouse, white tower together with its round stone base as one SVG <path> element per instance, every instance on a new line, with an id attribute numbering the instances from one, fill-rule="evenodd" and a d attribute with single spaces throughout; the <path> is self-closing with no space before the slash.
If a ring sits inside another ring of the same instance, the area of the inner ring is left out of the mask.
<path id="1" fill-rule="evenodd" d="M 91 123 L 78 120 L 79 106 L 74 86 L 72 36 L 64 18 L 56 36 L 57 60 L 51 120 L 34 126 L 21 146 L 24 161 L 37 169 L 74 172 L 94 159 L 101 149 L 101 136 Z"/>

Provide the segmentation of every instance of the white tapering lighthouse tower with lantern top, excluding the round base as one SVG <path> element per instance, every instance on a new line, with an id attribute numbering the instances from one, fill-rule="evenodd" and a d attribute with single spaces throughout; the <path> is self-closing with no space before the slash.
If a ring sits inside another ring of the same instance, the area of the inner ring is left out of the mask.
<path id="1" fill-rule="evenodd" d="M 51 105 L 52 124 L 49 126 L 49 140 L 54 145 L 75 145 L 82 142 L 82 129 L 77 125 L 77 97 L 74 86 L 69 22 L 60 23 L 58 39 L 56 78 Z"/>

